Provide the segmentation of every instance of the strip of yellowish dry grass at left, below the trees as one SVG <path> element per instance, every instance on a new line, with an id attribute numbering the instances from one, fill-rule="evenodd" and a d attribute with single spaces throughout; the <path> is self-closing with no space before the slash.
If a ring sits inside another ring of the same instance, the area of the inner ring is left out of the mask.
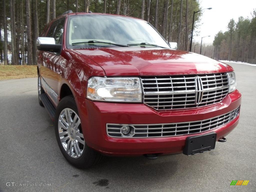
<path id="1" fill-rule="evenodd" d="M 0 65 L 0 80 L 37 77 L 36 65 Z"/>

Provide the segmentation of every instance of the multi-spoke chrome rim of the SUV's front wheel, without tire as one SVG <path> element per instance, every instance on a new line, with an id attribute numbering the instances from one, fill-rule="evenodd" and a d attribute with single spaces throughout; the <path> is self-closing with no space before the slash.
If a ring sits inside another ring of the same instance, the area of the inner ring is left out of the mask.
<path id="1" fill-rule="evenodd" d="M 61 111 L 58 120 L 60 142 L 72 158 L 79 158 L 84 151 L 84 138 L 81 129 L 80 118 L 70 108 Z"/>

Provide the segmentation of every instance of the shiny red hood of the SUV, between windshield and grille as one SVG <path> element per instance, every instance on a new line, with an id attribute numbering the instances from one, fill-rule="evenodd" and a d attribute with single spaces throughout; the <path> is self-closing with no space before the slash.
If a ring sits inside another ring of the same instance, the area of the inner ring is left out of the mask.
<path id="1" fill-rule="evenodd" d="M 188 51 L 141 47 L 77 49 L 106 76 L 161 76 L 232 71 L 232 67 Z"/>

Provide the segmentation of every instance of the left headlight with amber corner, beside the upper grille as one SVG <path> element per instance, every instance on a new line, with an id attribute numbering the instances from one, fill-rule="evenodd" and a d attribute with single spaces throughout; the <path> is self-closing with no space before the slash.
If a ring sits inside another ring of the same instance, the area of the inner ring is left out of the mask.
<path id="1" fill-rule="evenodd" d="M 140 79 L 137 77 L 91 77 L 87 98 L 94 101 L 142 102 Z"/>

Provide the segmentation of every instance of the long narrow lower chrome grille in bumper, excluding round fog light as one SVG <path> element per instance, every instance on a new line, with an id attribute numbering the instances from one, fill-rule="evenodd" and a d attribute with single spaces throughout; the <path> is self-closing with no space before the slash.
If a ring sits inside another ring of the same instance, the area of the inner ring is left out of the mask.
<path id="1" fill-rule="evenodd" d="M 180 123 L 164 123 L 164 124 L 106 124 L 106 131 L 110 137 L 122 138 L 148 138 L 148 137 L 173 137 L 180 135 L 188 135 L 201 133 L 221 127 L 239 114 L 240 106 L 223 115 L 219 115 L 210 119 Z M 129 125 L 134 128 L 132 136 L 124 136 L 121 133 L 121 128 L 124 125 Z"/>

